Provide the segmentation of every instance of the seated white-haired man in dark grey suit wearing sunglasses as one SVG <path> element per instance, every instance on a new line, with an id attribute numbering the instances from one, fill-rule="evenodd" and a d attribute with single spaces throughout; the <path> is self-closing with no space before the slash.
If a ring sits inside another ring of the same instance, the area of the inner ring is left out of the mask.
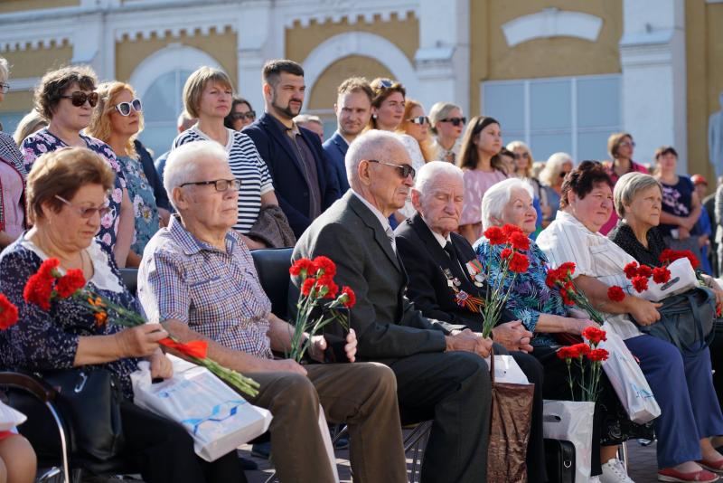
<path id="1" fill-rule="evenodd" d="M 357 295 L 357 355 L 397 375 L 402 422 L 434 420 L 422 481 L 486 481 L 491 383 L 483 357 L 492 341 L 424 317 L 405 297 L 407 275 L 388 218 L 413 183 L 407 149 L 372 130 L 354 140 L 345 161 L 352 189 L 311 224 L 293 258 L 336 262 L 337 281 Z"/>

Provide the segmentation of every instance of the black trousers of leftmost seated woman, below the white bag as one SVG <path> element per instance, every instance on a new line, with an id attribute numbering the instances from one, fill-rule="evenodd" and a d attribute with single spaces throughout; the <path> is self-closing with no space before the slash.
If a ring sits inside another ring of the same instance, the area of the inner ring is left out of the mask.
<path id="1" fill-rule="evenodd" d="M 139 408 L 121 405 L 126 436 L 124 457 L 146 483 L 246 483 L 236 451 L 209 463 L 193 452 L 191 435 L 180 424 Z"/>

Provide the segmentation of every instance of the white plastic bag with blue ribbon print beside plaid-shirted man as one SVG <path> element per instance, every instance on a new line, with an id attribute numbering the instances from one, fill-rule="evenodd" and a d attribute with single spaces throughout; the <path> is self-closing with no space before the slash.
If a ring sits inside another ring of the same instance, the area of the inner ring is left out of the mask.
<path id="1" fill-rule="evenodd" d="M 213 461 L 268 430 L 271 413 L 247 403 L 205 367 L 173 355 L 174 376 L 151 384 L 150 365 L 131 374 L 134 403 L 183 425 L 196 454 Z"/>

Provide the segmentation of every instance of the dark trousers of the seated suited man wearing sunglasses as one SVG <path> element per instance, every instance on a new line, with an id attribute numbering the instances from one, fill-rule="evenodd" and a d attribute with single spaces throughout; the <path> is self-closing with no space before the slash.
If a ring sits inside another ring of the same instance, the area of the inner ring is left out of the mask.
<path id="1" fill-rule="evenodd" d="M 490 371 L 468 352 L 382 361 L 397 376 L 402 424 L 433 420 L 422 483 L 484 483 L 490 434 Z"/>

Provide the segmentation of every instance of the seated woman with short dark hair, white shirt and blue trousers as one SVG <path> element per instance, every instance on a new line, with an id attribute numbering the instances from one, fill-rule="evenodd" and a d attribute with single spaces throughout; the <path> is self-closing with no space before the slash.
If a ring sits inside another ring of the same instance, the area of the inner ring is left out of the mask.
<path id="1" fill-rule="evenodd" d="M 709 437 L 723 434 L 723 414 L 711 379 L 709 349 L 682 355 L 671 343 L 639 330 L 660 320 L 661 304 L 633 295 L 624 267 L 634 258 L 599 233 L 612 209 L 612 180 L 605 167 L 584 161 L 565 178 L 557 218 L 540 233 L 537 243 L 552 266 L 576 263 L 577 287 L 603 312 L 606 329 L 623 338 L 640 359 L 662 410 L 653 421 L 658 478 L 715 481 L 718 477 L 710 471 L 723 472 L 723 455 Z M 611 300 L 607 293 L 612 286 L 627 289 L 628 295 Z"/>

